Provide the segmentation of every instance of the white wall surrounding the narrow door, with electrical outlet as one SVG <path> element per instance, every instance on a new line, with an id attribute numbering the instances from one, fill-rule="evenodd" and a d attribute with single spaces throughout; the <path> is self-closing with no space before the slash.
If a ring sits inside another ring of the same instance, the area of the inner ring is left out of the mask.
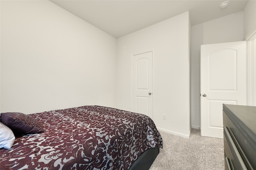
<path id="1" fill-rule="evenodd" d="M 153 49 L 153 120 L 161 131 L 189 137 L 189 36 L 185 12 L 119 38 L 115 107 L 132 111 L 132 55 Z"/>

